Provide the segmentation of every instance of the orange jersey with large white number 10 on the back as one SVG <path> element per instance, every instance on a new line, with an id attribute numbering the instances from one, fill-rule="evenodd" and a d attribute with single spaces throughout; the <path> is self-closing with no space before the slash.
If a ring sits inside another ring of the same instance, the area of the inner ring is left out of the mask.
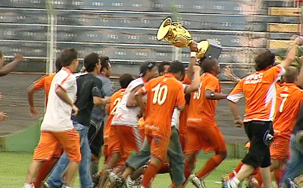
<path id="1" fill-rule="evenodd" d="M 140 89 L 147 94 L 145 134 L 169 140 L 175 106 L 184 106 L 184 88 L 173 74 L 165 74 L 147 82 Z"/>

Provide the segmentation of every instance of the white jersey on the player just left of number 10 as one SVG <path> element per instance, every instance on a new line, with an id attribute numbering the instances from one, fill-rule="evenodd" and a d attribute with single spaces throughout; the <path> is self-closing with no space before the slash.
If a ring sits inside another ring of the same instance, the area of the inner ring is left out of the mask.
<path id="1" fill-rule="evenodd" d="M 117 106 L 117 110 L 115 112 L 115 116 L 111 125 L 127 125 L 127 126 L 137 126 L 138 125 L 138 117 L 140 107 L 127 107 L 128 97 L 134 89 L 139 86 L 144 86 L 145 80 L 144 78 L 136 78 L 131 81 L 131 83 L 127 86 L 121 102 Z"/>

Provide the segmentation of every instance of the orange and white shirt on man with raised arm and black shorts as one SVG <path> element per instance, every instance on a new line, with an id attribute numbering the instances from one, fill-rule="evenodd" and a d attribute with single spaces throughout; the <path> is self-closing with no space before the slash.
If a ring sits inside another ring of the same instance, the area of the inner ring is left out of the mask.
<path id="1" fill-rule="evenodd" d="M 281 65 L 260 70 L 243 78 L 227 97 L 238 102 L 245 97 L 244 122 L 273 121 L 276 107 L 276 86 L 285 69 Z"/>

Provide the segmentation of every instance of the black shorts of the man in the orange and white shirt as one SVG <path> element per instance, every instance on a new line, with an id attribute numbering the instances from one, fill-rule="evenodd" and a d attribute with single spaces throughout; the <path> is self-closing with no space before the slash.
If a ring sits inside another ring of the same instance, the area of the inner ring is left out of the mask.
<path id="1" fill-rule="evenodd" d="M 244 123 L 244 128 L 250 140 L 250 149 L 242 162 L 254 168 L 270 166 L 269 145 L 273 141 L 270 136 L 273 136 L 273 122 L 251 121 Z"/>

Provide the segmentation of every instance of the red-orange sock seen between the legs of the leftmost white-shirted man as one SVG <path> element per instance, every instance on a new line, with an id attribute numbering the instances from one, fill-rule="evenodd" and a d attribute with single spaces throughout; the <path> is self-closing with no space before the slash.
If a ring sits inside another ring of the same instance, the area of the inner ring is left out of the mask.
<path id="1" fill-rule="evenodd" d="M 55 166 L 56 162 L 58 161 L 58 158 L 51 158 L 49 161 L 45 161 L 42 163 L 42 165 L 39 168 L 36 181 L 34 183 L 36 188 L 41 188 L 41 183 L 44 181 L 44 179 L 47 177 L 47 175 L 51 172 L 53 167 Z"/>

